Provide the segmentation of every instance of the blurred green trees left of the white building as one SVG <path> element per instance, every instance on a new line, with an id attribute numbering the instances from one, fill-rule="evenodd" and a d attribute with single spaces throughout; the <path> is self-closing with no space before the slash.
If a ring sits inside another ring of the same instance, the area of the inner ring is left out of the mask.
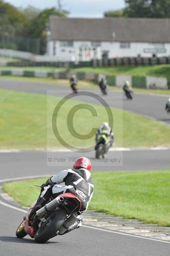
<path id="1" fill-rule="evenodd" d="M 33 6 L 17 9 L 0 0 L 0 47 L 44 54 L 50 15 L 67 16 L 68 12 Z"/>

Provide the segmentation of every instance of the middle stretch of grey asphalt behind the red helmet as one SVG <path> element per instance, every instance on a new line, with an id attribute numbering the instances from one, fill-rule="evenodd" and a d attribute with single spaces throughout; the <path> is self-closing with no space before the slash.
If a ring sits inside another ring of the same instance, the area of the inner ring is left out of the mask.
<path id="1" fill-rule="evenodd" d="M 56 152 L 48 153 L 48 157 L 52 159 L 55 157 L 68 159 L 68 157 L 80 156 L 80 154 L 72 152 Z M 109 152 L 108 157 L 112 157 L 114 152 Z M 91 157 L 89 153 L 84 154 L 85 157 Z M 70 168 L 68 162 L 56 164 L 55 166 L 47 163 L 46 152 L 19 152 L 19 153 L 0 153 L 0 180 L 34 176 L 34 175 L 54 175 L 62 169 Z M 122 157 L 118 152 L 118 157 Z M 140 170 L 154 170 L 154 169 L 169 169 L 169 150 L 137 150 L 123 152 L 123 165 L 107 165 L 93 164 L 92 171 L 140 171 Z M 47 165 L 48 164 L 48 165 Z"/>

